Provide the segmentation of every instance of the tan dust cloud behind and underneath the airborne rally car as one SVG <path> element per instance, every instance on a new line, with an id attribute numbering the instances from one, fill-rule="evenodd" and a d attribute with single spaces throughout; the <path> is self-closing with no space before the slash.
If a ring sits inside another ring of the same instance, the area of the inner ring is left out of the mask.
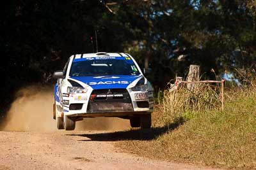
<path id="1" fill-rule="evenodd" d="M 1 125 L 3 131 L 58 131 L 52 118 L 53 87 L 26 87 L 16 99 Z M 121 118 L 84 118 L 76 122 L 76 131 L 129 129 L 129 120 Z M 60 131 L 60 130 L 59 130 Z"/>

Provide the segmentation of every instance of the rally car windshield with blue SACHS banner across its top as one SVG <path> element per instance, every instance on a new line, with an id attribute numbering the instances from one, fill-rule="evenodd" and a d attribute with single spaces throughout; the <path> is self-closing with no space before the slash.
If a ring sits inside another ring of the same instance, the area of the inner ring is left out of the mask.
<path id="1" fill-rule="evenodd" d="M 74 59 L 70 76 L 106 76 L 140 74 L 138 68 L 129 57 L 96 57 Z"/>

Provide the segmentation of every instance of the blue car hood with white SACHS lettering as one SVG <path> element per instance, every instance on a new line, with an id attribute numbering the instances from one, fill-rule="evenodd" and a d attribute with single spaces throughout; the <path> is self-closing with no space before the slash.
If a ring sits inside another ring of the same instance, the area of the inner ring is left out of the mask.
<path id="1" fill-rule="evenodd" d="M 111 75 L 111 76 L 71 76 L 73 80 L 86 83 L 92 89 L 126 89 L 139 75 Z"/>

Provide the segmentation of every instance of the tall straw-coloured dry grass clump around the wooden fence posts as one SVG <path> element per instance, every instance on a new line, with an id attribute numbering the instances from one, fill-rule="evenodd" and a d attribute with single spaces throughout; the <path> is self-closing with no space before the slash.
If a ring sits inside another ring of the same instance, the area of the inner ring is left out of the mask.
<path id="1" fill-rule="evenodd" d="M 163 121 L 170 124 L 180 117 L 188 121 L 198 111 L 219 110 L 220 106 L 220 87 L 202 83 L 196 84 L 194 90 L 188 90 L 183 84 L 179 90 L 164 90 Z"/>

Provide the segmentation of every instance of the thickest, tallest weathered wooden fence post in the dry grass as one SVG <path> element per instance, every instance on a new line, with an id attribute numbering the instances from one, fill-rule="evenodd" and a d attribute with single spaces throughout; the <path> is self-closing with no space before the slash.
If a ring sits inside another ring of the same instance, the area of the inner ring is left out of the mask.
<path id="1" fill-rule="evenodd" d="M 188 73 L 188 82 L 199 81 L 199 76 L 200 76 L 200 66 L 190 65 L 189 73 Z M 193 89 L 195 89 L 195 84 L 188 83 L 187 88 L 189 90 L 193 90 Z"/>

